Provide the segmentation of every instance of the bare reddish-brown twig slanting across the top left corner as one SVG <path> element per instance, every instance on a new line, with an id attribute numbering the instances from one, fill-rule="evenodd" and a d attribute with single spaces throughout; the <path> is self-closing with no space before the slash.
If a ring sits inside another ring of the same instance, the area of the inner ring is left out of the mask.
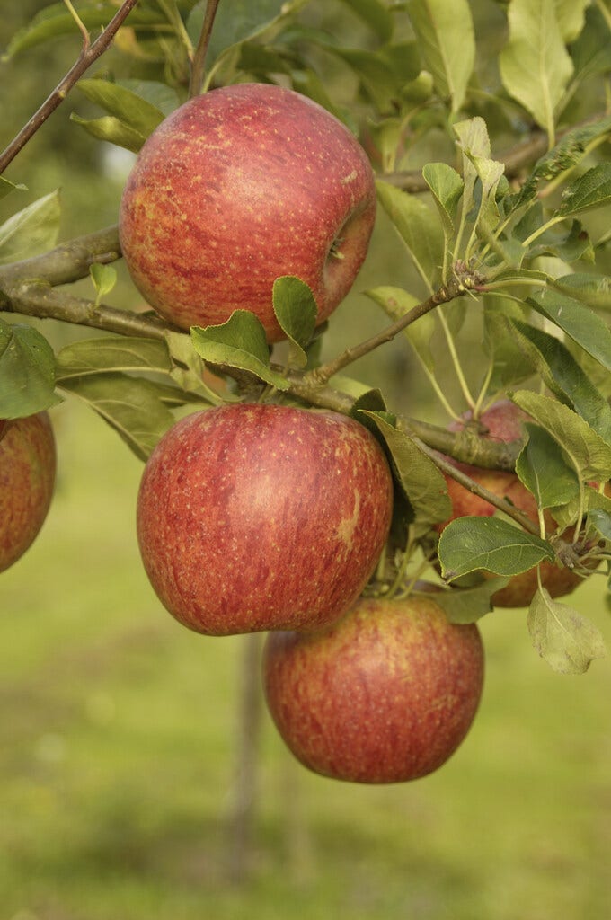
<path id="1" fill-rule="evenodd" d="M 87 43 L 84 42 L 83 49 L 78 59 L 68 73 L 63 77 L 60 83 L 55 86 L 51 95 L 46 98 L 40 106 L 40 109 L 32 115 L 27 124 L 23 126 L 17 136 L 8 144 L 6 150 L 0 154 L 0 174 L 2 174 L 8 164 L 15 159 L 19 151 L 28 144 L 29 140 L 39 130 L 40 126 L 47 121 L 52 112 L 62 104 L 68 92 L 75 86 L 75 83 L 77 83 L 91 64 L 97 61 L 98 57 L 109 48 L 110 42 L 137 3 L 138 0 L 123 0 L 120 9 L 117 10 L 98 39 L 91 45 L 87 45 Z"/>

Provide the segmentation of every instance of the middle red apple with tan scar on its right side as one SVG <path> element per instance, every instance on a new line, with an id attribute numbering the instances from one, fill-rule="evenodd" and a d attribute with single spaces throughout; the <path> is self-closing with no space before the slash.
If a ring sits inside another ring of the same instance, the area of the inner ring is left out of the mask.
<path id="1" fill-rule="evenodd" d="M 167 431 L 144 468 L 144 569 L 197 632 L 317 629 L 363 591 L 392 496 L 385 454 L 352 419 L 271 404 L 207 409 Z"/>

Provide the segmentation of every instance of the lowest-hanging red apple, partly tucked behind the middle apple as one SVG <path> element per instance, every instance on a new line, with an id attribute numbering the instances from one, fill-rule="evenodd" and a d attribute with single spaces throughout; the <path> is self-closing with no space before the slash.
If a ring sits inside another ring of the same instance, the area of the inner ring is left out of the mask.
<path id="1" fill-rule="evenodd" d="M 475 624 L 431 598 L 363 598 L 313 635 L 272 632 L 263 650 L 271 718 L 304 766 L 334 779 L 398 783 L 443 765 L 478 709 Z"/>

